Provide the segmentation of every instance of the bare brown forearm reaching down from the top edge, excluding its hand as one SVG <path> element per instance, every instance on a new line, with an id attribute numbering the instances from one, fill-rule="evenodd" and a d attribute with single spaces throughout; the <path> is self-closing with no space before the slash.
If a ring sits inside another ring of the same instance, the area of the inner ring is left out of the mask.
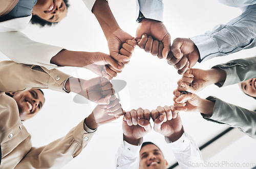
<path id="1" fill-rule="evenodd" d="M 97 18 L 106 39 L 120 28 L 111 12 L 108 2 L 105 0 L 97 0 L 93 6 L 92 12 Z"/>

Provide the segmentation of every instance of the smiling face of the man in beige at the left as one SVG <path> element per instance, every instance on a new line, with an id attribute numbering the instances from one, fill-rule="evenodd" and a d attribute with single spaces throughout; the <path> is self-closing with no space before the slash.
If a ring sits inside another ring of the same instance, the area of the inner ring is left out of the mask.
<path id="1" fill-rule="evenodd" d="M 44 94 L 38 89 L 15 92 L 12 98 L 18 105 L 19 117 L 22 120 L 36 115 L 45 103 Z"/>

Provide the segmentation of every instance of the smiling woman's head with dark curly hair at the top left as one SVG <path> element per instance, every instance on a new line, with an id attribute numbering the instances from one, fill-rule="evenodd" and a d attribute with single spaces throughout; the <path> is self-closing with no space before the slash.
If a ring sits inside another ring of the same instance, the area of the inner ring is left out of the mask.
<path id="1" fill-rule="evenodd" d="M 47 4 L 48 7 L 46 8 L 46 10 L 44 6 L 47 5 L 41 4 L 39 2 L 40 1 L 38 1 L 33 8 L 33 15 L 30 20 L 32 24 L 37 24 L 41 27 L 44 27 L 46 25 L 52 26 L 59 22 L 67 14 L 67 9 L 69 7 L 68 0 L 55 0 L 50 6 L 49 4 Z"/>

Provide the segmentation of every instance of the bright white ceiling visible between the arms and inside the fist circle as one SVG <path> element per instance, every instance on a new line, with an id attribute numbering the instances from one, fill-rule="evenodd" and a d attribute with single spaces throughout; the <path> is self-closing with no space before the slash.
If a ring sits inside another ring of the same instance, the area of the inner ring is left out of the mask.
<path id="1" fill-rule="evenodd" d="M 138 23 L 135 21 L 135 1 L 110 0 L 112 12 L 119 26 L 135 36 Z M 191 37 L 212 30 L 214 26 L 226 23 L 241 14 L 240 9 L 219 4 L 216 0 L 204 1 L 164 1 L 164 21 L 172 40 L 177 37 Z M 82 1 L 70 1 L 70 8 L 65 19 L 53 28 L 38 28 L 29 25 L 24 31 L 31 39 L 65 47 L 68 50 L 108 53 L 108 46 L 102 30 L 94 17 Z M 226 57 L 215 58 L 204 63 L 197 63 L 195 67 L 208 69 L 218 63 L 231 59 L 252 57 L 256 49 L 244 50 Z M 1 60 L 7 58 L 0 55 Z M 95 77 L 86 69 L 60 68 L 75 77 L 90 79 Z M 121 74 L 115 79 L 127 82 L 126 87 L 119 92 L 124 110 L 130 111 L 142 107 L 155 109 L 157 106 L 172 105 L 172 91 L 180 78 L 176 69 L 139 47 L 125 66 Z M 94 108 L 94 104 L 76 104 L 74 94 L 58 93 L 44 90 L 45 106 L 32 119 L 24 123 L 32 135 L 33 146 L 38 147 L 49 143 L 76 126 L 87 117 Z M 254 110 L 255 100 L 246 96 L 238 87 L 232 85 L 224 88 L 208 86 L 198 93 L 202 98 L 215 95 L 218 98 L 247 109 Z M 217 125 L 204 120 L 200 113 L 181 112 L 184 129 L 196 140 L 199 146 L 224 131 L 227 126 Z M 113 168 L 115 153 L 122 140 L 122 119 L 98 128 L 94 138 L 86 149 L 68 163 L 64 168 Z M 171 150 L 166 146 L 164 137 L 152 131 L 144 137 L 144 141 L 153 141 L 159 145 L 168 163 L 175 163 Z M 239 156 L 240 161 L 248 161 L 255 155 L 255 140 L 243 135 L 237 141 L 223 148 L 206 161 L 234 161 Z M 218 146 L 217 146 L 218 147 Z M 232 150 L 232 151 L 230 151 Z M 99 162 L 100 161 L 100 162 Z M 253 162 L 253 161 L 251 161 Z M 246 168 L 246 167 L 243 167 Z M 251 167 L 247 167 L 251 168 Z"/>

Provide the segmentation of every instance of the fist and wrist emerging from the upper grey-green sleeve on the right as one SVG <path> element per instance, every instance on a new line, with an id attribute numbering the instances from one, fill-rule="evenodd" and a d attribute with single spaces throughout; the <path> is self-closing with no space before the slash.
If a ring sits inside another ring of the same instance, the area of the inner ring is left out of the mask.
<path id="1" fill-rule="evenodd" d="M 196 93 L 206 86 L 223 82 L 226 79 L 226 73 L 220 68 L 211 68 L 208 70 L 191 68 L 182 75 L 177 82 L 178 90 Z"/>

